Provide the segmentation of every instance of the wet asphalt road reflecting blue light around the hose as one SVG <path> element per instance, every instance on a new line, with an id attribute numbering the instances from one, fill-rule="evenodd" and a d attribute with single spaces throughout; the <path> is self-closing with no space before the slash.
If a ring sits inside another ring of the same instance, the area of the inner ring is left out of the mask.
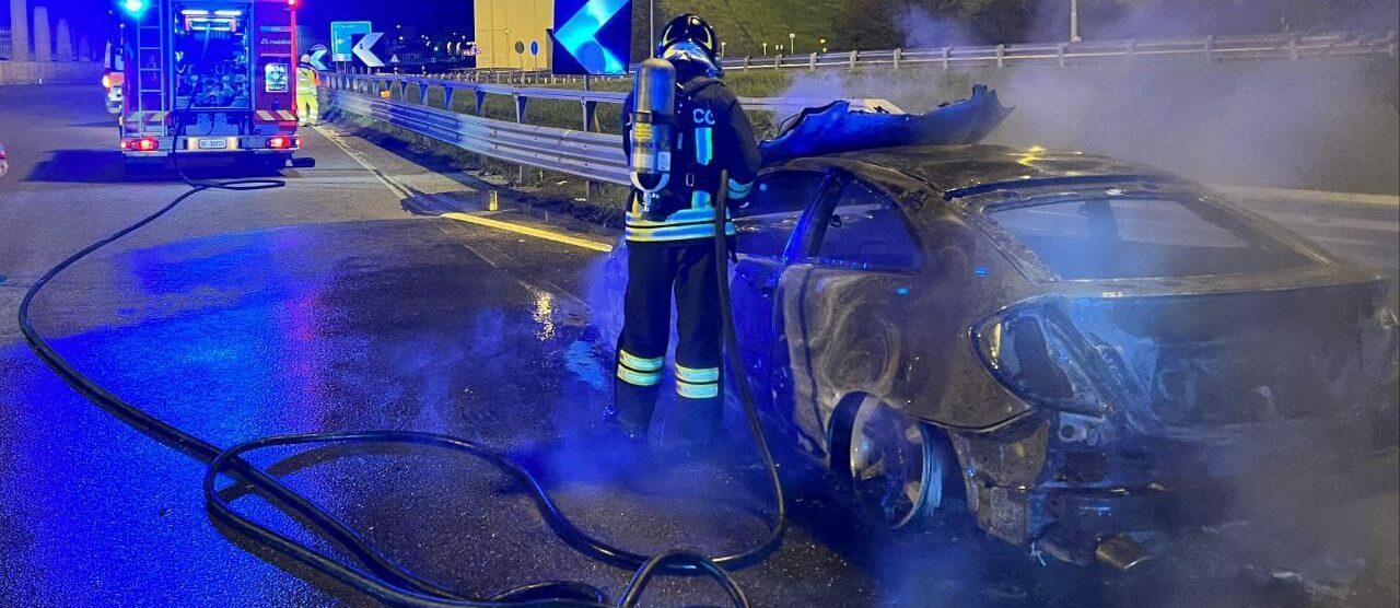
<path id="1" fill-rule="evenodd" d="M 199 462 L 83 401 L 22 345 L 11 319 L 34 279 L 185 189 L 126 182 L 104 151 L 112 136 L 90 87 L 0 88 L 0 137 L 14 158 L 0 182 L 0 605 L 370 604 L 210 524 Z M 612 336 L 595 322 L 589 289 L 601 254 L 414 216 L 405 209 L 421 205 L 405 195 L 470 205 L 480 184 L 337 140 L 309 133 L 319 165 L 286 171 L 284 189 L 203 193 L 76 266 L 36 301 L 38 329 L 115 394 L 218 445 L 412 429 L 501 451 L 549 447 L 549 485 L 605 538 L 710 553 L 762 538 L 769 497 L 743 444 L 718 462 L 637 468 L 620 481 L 584 457 L 609 377 L 601 361 Z M 399 563 L 463 593 L 563 579 L 616 594 L 630 577 L 564 546 L 525 495 L 470 458 L 347 450 L 277 471 Z M 736 574 L 760 607 L 1334 605 L 1303 602 L 1267 573 L 1243 579 L 1242 556 L 1393 581 L 1400 535 L 1393 492 L 1368 495 L 1284 527 L 1292 545 L 1329 548 L 1308 555 L 1326 563 L 1240 542 L 1212 553 L 1221 572 L 1208 581 L 1127 586 L 1033 567 L 952 532 L 888 539 L 823 499 L 819 479 L 785 472 L 797 486 L 792 530 L 781 551 Z M 237 504 L 305 537 L 256 500 Z M 678 579 L 648 598 L 722 600 L 708 583 Z"/>

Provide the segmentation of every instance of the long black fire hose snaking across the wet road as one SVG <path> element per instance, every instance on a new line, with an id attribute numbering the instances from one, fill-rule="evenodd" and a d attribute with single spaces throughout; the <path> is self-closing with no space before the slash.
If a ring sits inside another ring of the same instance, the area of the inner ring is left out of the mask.
<path id="1" fill-rule="evenodd" d="M 175 167 L 176 170 L 179 168 L 178 160 Z M 738 388 L 738 396 L 743 406 L 749 433 L 753 436 L 753 441 L 767 471 L 769 482 L 773 486 L 776 510 L 770 532 L 763 542 L 745 552 L 718 558 L 706 558 L 685 551 L 668 551 L 647 556 L 596 539 L 570 521 L 550 497 L 545 486 L 528 471 L 515 462 L 511 462 L 501 454 L 469 440 L 433 433 L 375 430 L 266 437 L 224 450 L 155 417 L 136 405 L 123 401 L 104 388 L 99 382 L 76 368 L 67 359 L 53 349 L 43 335 L 34 329 L 29 319 L 29 308 L 35 297 L 43 290 L 45 286 L 74 263 L 158 220 L 195 195 L 206 191 L 252 192 L 286 186 L 286 182 L 281 179 L 195 182 L 186 178 L 183 171 L 181 171 L 181 177 L 186 181 L 186 184 L 189 184 L 189 191 L 172 199 L 164 207 L 140 221 L 70 255 L 43 273 L 43 276 L 41 276 L 28 289 L 28 291 L 25 291 L 24 300 L 20 303 L 18 321 L 20 331 L 24 333 L 24 338 L 34 353 L 80 395 L 148 437 L 179 450 L 207 465 L 203 479 L 203 492 L 210 517 L 217 518 L 220 523 L 281 553 L 283 556 L 300 562 L 301 565 L 325 576 L 336 579 L 377 601 L 399 607 L 630 608 L 638 605 L 647 586 L 658 574 L 701 574 L 710 577 L 720 584 L 735 607 L 749 605 L 743 590 L 739 588 L 734 577 L 729 576 L 727 567 L 739 569 L 750 566 L 762 562 L 769 553 L 771 553 L 783 539 L 787 510 L 777 465 L 773 461 L 773 454 L 769 450 L 767 440 L 763 434 L 752 389 L 738 350 L 738 336 L 734 328 L 734 315 L 729 303 L 727 200 L 722 189 L 717 196 L 715 203 L 714 247 L 717 256 L 715 272 L 720 289 L 720 304 L 721 310 L 725 311 L 724 339 L 729 353 L 729 367 L 736 374 L 732 384 Z M 725 184 L 725 181 L 721 181 L 721 184 Z M 588 584 L 573 581 L 535 583 L 503 591 L 487 598 L 472 598 L 437 586 L 393 563 L 379 551 L 370 546 L 361 535 L 333 514 L 297 490 L 288 488 L 281 479 L 259 467 L 255 467 L 244 458 L 245 454 L 262 448 L 328 444 L 412 444 L 480 458 L 505 472 L 522 486 L 528 488 L 545 521 L 570 546 L 605 563 L 624 569 L 634 569 L 636 574 L 631 577 L 623 591 L 623 595 L 613 604 L 606 601 L 606 595 L 601 590 Z M 356 563 L 347 563 L 332 558 L 323 552 L 312 549 L 307 544 L 279 534 L 269 527 L 239 514 L 232 504 L 230 504 L 228 500 L 220 495 L 217 482 L 221 476 L 235 479 L 238 482 L 237 485 L 241 485 L 249 493 L 258 495 L 270 506 L 295 518 L 308 530 L 318 532 L 322 538 L 347 552 Z"/>

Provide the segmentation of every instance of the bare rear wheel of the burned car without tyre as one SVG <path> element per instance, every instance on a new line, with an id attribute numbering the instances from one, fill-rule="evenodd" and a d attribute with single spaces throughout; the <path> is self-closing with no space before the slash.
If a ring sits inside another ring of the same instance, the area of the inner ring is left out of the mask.
<path id="1" fill-rule="evenodd" d="M 944 503 L 948 462 L 928 424 L 865 398 L 851 423 L 851 486 L 860 507 L 892 530 L 907 528 Z"/>

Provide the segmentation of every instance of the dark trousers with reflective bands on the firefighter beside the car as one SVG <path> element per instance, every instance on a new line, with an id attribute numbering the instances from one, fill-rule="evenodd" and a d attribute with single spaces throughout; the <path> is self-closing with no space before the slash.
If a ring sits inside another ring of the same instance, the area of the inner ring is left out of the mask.
<path id="1" fill-rule="evenodd" d="M 615 423 L 643 433 L 661 394 L 671 342 L 671 301 L 676 303 L 676 430 L 679 438 L 707 443 L 720 430 L 722 317 L 715 283 L 714 241 L 629 242 L 627 294 L 617 340 Z"/>

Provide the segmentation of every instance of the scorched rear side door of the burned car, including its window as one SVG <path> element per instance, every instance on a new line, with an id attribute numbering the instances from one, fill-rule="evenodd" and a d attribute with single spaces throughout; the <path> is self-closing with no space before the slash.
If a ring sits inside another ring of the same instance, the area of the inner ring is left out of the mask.
<path id="1" fill-rule="evenodd" d="M 913 321 L 897 308 L 923 249 L 900 206 L 855 178 L 819 200 L 801 226 L 776 315 L 788 357 L 787 373 L 776 374 L 776 409 L 802 436 L 822 437 L 812 450 L 822 455 L 837 401 L 893 381 L 899 325 Z"/>

